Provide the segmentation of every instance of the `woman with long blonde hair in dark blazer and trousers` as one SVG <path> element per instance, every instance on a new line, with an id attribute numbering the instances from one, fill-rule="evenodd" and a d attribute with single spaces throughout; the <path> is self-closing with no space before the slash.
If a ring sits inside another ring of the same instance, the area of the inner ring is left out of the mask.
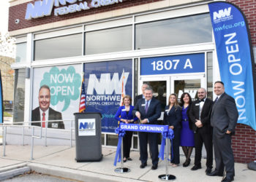
<path id="1" fill-rule="evenodd" d="M 178 105 L 178 99 L 176 94 L 169 96 L 168 106 L 165 106 L 164 124 L 173 129 L 173 159 L 170 162 L 172 167 L 177 167 L 179 159 L 179 144 L 180 144 L 180 132 L 181 132 L 181 106 Z"/>

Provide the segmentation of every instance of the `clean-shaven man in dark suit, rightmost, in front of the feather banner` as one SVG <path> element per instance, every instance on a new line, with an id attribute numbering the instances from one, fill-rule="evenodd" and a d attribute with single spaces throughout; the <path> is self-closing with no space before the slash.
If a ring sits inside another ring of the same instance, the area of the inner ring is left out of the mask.
<path id="1" fill-rule="evenodd" d="M 211 126 L 214 127 L 214 156 L 216 168 L 208 175 L 222 176 L 224 167 L 227 172 L 222 182 L 233 181 L 235 175 L 234 156 L 231 148 L 231 135 L 236 129 L 238 110 L 234 98 L 225 93 L 223 82 L 214 83 L 214 93 L 217 95 L 211 110 Z"/>

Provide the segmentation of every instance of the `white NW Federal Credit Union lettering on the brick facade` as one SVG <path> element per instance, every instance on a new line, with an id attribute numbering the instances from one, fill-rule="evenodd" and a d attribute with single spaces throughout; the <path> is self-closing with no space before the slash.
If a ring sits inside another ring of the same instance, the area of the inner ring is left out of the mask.
<path id="1" fill-rule="evenodd" d="M 104 7 L 111 4 L 121 3 L 123 0 L 42 0 L 29 3 L 26 7 L 26 20 L 31 18 L 50 16 L 53 7 L 54 15 L 67 15 L 72 12 L 80 12 L 91 8 Z M 60 7 L 61 6 L 61 7 Z"/>

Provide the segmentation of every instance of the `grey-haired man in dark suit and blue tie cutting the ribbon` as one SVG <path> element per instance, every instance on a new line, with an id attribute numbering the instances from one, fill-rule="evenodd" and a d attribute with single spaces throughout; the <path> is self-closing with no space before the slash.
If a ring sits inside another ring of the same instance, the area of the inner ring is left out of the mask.
<path id="1" fill-rule="evenodd" d="M 153 98 L 153 90 L 146 88 L 145 99 L 138 100 L 132 114 L 140 119 L 141 124 L 157 124 L 157 119 L 161 115 L 161 103 L 156 98 Z M 152 153 L 151 159 L 153 166 L 152 170 L 156 170 L 158 166 L 158 144 L 157 133 L 154 132 L 139 132 L 140 140 L 140 168 L 144 168 L 147 165 L 148 151 L 147 143 Z M 147 142 L 148 141 L 148 142 Z"/>

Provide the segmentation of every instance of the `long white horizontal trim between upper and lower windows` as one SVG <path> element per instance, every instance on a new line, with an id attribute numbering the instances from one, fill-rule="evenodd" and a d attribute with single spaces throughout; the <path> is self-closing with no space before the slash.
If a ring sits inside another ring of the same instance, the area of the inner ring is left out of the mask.
<path id="1" fill-rule="evenodd" d="M 213 43 L 189 44 L 174 47 L 157 47 L 154 49 L 131 50 L 126 52 L 109 52 L 98 55 L 85 55 L 71 58 L 56 58 L 51 60 L 36 60 L 31 63 L 32 67 L 59 66 L 75 63 L 90 63 L 94 61 L 120 60 L 138 57 L 157 57 L 161 55 L 181 55 L 188 52 L 205 52 L 214 50 Z M 13 63 L 12 69 L 22 68 L 27 63 Z M 25 67 L 25 66 L 24 66 Z"/>

